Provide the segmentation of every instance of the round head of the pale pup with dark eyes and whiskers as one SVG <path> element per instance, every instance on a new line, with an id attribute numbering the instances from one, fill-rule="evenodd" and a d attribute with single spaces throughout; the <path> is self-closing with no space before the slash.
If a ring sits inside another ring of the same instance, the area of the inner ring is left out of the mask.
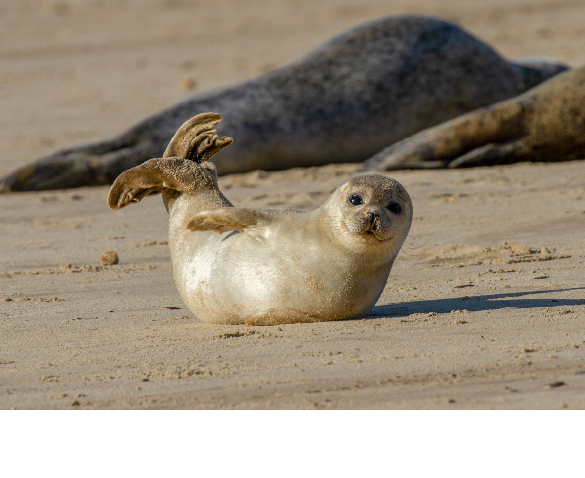
<path id="1" fill-rule="evenodd" d="M 412 223 L 412 201 L 398 181 L 381 174 L 348 179 L 320 208 L 333 236 L 360 254 L 394 260 Z"/>

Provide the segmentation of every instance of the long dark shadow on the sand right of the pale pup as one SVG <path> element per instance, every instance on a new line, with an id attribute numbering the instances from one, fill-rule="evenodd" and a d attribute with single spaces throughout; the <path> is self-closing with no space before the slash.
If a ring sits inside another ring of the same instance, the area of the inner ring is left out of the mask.
<path id="1" fill-rule="evenodd" d="M 532 290 L 528 292 L 514 292 L 503 294 L 490 294 L 481 296 L 450 297 L 449 299 L 412 300 L 409 302 L 396 302 L 374 306 L 369 316 L 377 317 L 406 317 L 410 314 L 428 314 L 431 312 L 445 313 L 452 310 L 469 310 L 470 312 L 505 309 L 535 309 L 537 307 L 551 306 L 582 306 L 584 299 L 560 299 L 560 298 L 531 298 L 516 299 L 530 294 L 549 294 L 555 292 L 567 292 L 568 290 L 585 290 L 585 288 L 555 289 L 555 290 Z"/>

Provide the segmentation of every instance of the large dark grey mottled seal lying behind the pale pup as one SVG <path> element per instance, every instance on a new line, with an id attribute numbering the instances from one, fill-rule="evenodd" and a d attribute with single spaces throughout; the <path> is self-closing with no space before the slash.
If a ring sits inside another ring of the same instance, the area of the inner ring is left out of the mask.
<path id="1" fill-rule="evenodd" d="M 57 151 L 6 176 L 0 190 L 111 183 L 160 157 L 181 123 L 201 111 L 221 112 L 220 133 L 238 138 L 216 157 L 220 174 L 359 162 L 565 69 L 542 59 L 507 61 L 440 19 L 390 16 L 265 75 L 192 96 L 112 140 Z"/>

